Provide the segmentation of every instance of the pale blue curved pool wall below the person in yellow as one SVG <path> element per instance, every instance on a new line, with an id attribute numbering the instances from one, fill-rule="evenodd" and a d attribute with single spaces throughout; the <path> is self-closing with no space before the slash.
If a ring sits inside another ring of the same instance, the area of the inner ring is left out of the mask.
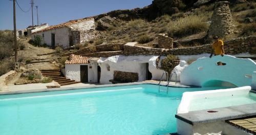
<path id="1" fill-rule="evenodd" d="M 217 65 L 217 62 L 226 65 Z M 256 63 L 251 59 L 236 58 L 230 55 L 224 57 L 199 58 L 186 66 L 181 73 L 181 84 L 202 86 L 211 80 L 230 82 L 237 86 L 252 85 L 252 74 L 256 71 Z"/>

